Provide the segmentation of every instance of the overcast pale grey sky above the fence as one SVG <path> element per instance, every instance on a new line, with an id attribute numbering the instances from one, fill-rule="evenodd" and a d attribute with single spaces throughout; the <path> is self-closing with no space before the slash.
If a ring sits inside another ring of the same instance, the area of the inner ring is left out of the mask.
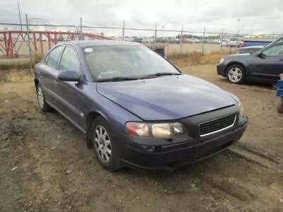
<path id="1" fill-rule="evenodd" d="M 18 0 L 22 22 L 242 34 L 283 33 L 283 0 Z M 239 21 L 238 21 L 239 20 Z M 43 20 L 32 20 L 44 23 Z M 0 23 L 19 23 L 17 0 L 0 0 Z M 0 29 L 4 28 L 0 25 Z M 98 30 L 99 31 L 99 30 Z M 120 35 L 121 30 L 100 30 Z M 126 35 L 131 34 L 129 30 Z M 144 32 L 137 31 L 137 34 Z M 147 32 L 147 35 L 154 32 Z M 168 36 L 173 33 L 167 33 Z"/>

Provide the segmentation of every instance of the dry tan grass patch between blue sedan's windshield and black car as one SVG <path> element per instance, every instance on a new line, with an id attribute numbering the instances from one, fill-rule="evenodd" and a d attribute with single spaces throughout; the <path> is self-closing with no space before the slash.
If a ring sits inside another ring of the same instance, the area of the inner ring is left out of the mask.
<path id="1" fill-rule="evenodd" d="M 221 57 L 231 54 L 229 52 L 212 52 L 211 54 L 202 54 L 192 52 L 185 54 L 169 54 L 168 59 L 176 66 L 197 66 L 204 64 L 217 64 Z"/>

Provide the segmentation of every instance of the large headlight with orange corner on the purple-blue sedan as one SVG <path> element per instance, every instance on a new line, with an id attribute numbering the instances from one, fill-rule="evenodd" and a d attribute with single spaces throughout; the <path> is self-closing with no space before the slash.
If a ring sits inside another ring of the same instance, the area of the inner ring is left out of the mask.
<path id="1" fill-rule="evenodd" d="M 185 127 L 179 122 L 175 123 L 143 123 L 127 122 L 127 134 L 132 136 L 171 139 L 174 136 L 186 134 Z"/>

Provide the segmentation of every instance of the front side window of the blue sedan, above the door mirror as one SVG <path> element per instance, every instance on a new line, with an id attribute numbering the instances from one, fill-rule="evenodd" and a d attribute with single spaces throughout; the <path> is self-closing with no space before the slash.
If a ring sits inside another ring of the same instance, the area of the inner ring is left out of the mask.
<path id="1" fill-rule="evenodd" d="M 66 47 L 64 50 L 59 70 L 76 71 L 76 73 L 81 74 L 79 58 L 73 48 Z"/>

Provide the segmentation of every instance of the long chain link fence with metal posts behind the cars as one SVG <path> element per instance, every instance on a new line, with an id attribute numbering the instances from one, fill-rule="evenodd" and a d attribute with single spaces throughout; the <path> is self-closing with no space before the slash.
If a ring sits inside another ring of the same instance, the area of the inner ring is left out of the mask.
<path id="1" fill-rule="evenodd" d="M 54 25 L 36 23 L 35 18 L 25 24 L 0 23 L 0 59 L 30 57 L 44 54 L 58 42 L 68 40 L 112 39 L 129 42 L 141 42 L 146 45 L 162 43 L 167 45 L 168 54 L 190 52 L 233 52 L 243 39 L 275 40 L 280 35 L 243 35 L 221 32 L 193 31 L 183 28 L 178 30 L 155 28 L 129 28 L 125 21 L 120 26 Z"/>

